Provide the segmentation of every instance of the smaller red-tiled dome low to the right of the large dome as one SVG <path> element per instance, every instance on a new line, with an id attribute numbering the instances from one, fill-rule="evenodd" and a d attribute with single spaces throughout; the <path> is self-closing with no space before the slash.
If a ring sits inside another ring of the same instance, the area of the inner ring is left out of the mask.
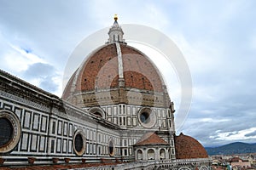
<path id="1" fill-rule="evenodd" d="M 208 158 L 207 150 L 194 138 L 180 133 L 175 136 L 176 159 Z"/>

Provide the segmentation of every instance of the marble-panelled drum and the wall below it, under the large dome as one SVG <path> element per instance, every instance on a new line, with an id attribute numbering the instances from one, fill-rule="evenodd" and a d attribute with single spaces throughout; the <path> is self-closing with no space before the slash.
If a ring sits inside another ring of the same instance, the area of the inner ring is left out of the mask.
<path id="1" fill-rule="evenodd" d="M 94 107 L 94 109 L 96 108 Z M 133 145 L 142 138 L 143 134 L 159 130 L 162 132 L 159 134 L 160 137 L 165 139 L 170 144 L 172 150 L 174 150 L 173 135 L 170 135 L 170 132 L 174 132 L 174 122 L 170 109 L 154 107 L 151 110 L 148 107 L 125 104 L 98 107 L 98 109 L 100 108 L 105 114 L 103 117 L 108 122 L 113 122 L 121 127 L 120 147 L 122 156 L 134 156 Z M 91 111 L 90 108 L 87 109 Z M 150 122 L 143 123 L 140 120 L 140 114 L 143 111 L 149 111 L 150 115 L 154 115 L 150 116 Z M 174 151 L 172 159 L 175 159 Z"/>

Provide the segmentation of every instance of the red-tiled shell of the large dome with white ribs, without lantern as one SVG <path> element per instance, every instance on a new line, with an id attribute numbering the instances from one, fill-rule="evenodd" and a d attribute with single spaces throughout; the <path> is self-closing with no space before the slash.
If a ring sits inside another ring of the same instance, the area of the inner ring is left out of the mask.
<path id="1" fill-rule="evenodd" d="M 125 88 L 163 92 L 164 83 L 153 62 L 137 48 L 118 44 L 108 43 L 90 54 L 70 78 L 62 98 L 67 99 L 70 92 L 79 94 L 119 88 L 120 79 L 123 79 Z"/>

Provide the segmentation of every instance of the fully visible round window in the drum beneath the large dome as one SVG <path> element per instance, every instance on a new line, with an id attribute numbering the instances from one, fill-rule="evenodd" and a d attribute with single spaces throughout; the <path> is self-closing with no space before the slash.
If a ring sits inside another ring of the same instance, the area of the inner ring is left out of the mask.
<path id="1" fill-rule="evenodd" d="M 143 125 L 143 127 L 154 127 L 156 122 L 156 116 L 154 111 L 148 107 L 143 107 L 138 112 L 138 120 Z"/>

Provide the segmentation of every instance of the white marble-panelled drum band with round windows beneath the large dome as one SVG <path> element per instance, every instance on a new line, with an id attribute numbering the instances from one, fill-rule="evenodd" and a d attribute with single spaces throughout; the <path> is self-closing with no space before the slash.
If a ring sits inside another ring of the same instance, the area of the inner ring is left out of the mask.
<path id="1" fill-rule="evenodd" d="M 149 109 L 147 106 L 126 104 L 106 105 L 102 106 L 102 109 L 106 113 L 106 120 L 121 127 L 143 129 L 143 131 L 159 129 L 174 131 L 173 115 L 170 109 L 160 107 Z M 140 113 L 143 112 L 143 109 L 148 109 L 149 122 L 143 123 L 141 120 Z"/>

